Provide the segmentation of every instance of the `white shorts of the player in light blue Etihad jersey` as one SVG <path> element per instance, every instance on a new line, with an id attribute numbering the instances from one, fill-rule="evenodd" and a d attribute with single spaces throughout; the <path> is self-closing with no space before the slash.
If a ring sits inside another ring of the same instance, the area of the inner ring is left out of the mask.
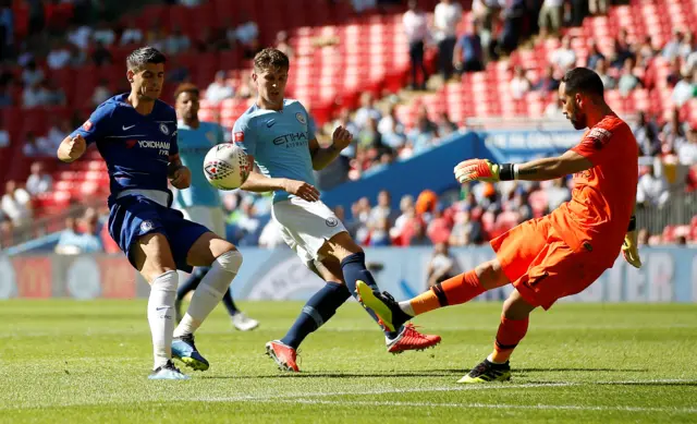
<path id="1" fill-rule="evenodd" d="M 285 243 L 305 264 L 321 259 L 318 253 L 327 240 L 346 231 L 343 222 L 320 201 L 291 197 L 277 202 L 271 208 L 271 216 L 281 225 Z"/>

